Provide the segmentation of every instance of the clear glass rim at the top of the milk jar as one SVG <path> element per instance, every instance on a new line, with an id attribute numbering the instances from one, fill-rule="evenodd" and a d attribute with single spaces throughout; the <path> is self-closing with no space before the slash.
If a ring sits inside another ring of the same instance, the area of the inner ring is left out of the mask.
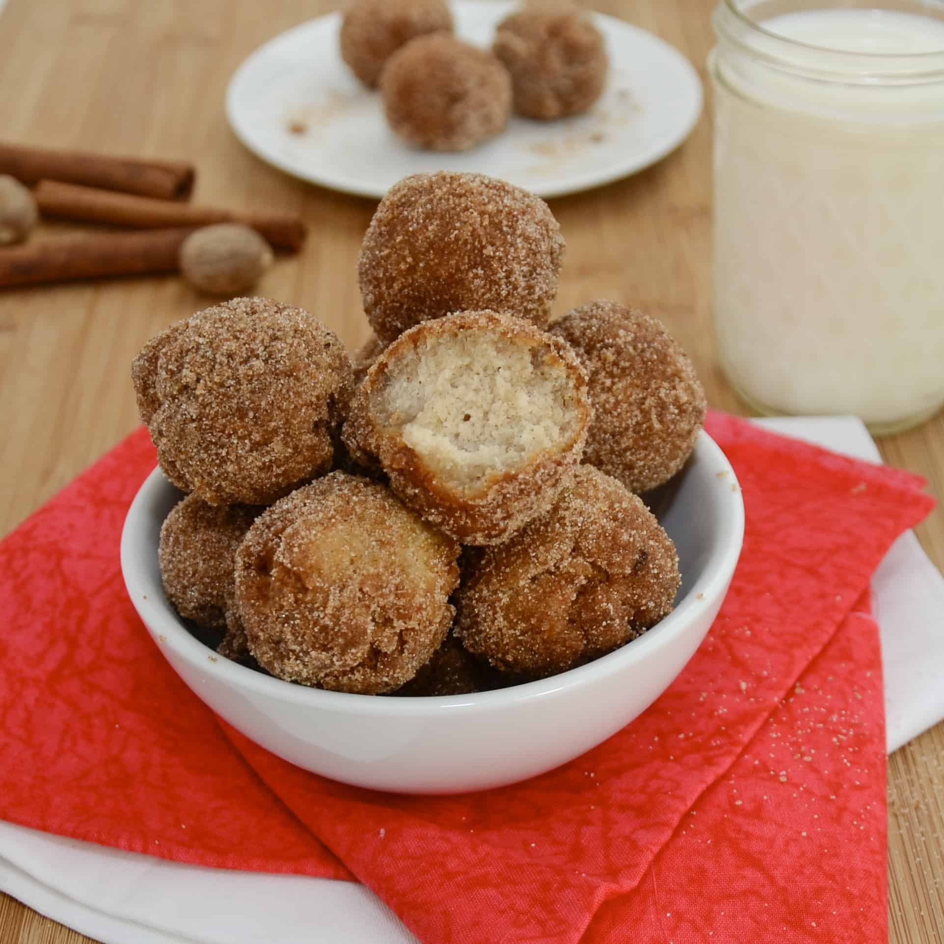
<path id="1" fill-rule="evenodd" d="M 920 4 L 927 11 L 939 11 L 944 25 L 944 2 L 928 0 Z M 940 50 L 916 53 L 852 52 L 829 46 L 803 42 L 768 29 L 763 21 L 750 16 L 751 6 L 761 6 L 763 0 L 719 0 L 713 22 L 719 40 L 732 42 L 744 52 L 765 59 L 769 64 L 796 69 L 822 78 L 844 81 L 872 82 L 882 79 L 899 81 L 940 81 L 944 79 L 944 46 Z M 918 5 L 916 5 L 917 7 Z M 831 9 L 826 0 L 822 8 Z M 864 7 L 865 8 L 865 7 Z M 870 4 L 868 9 L 876 9 Z M 837 7 L 836 9 L 849 9 Z M 879 7 L 879 9 L 883 9 Z M 922 15 L 916 13 L 914 15 Z M 815 64 L 811 64 L 815 62 Z"/>

